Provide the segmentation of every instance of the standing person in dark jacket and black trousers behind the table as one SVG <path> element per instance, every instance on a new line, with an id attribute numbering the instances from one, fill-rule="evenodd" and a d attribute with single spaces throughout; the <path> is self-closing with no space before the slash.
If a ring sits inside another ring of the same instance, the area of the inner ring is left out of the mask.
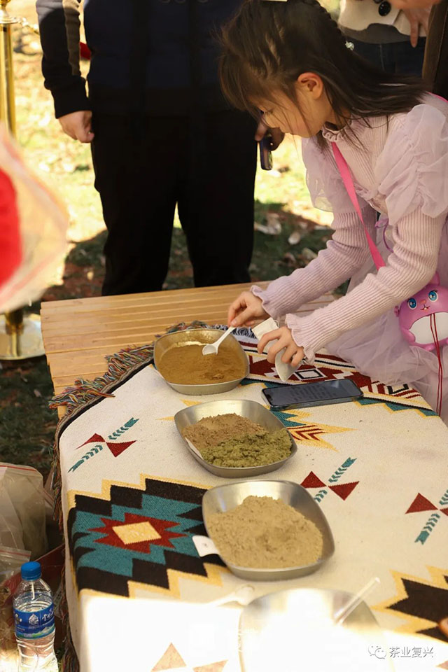
<path id="1" fill-rule="evenodd" d="M 43 76 L 64 132 L 92 143 L 108 230 L 104 294 L 160 290 L 176 204 L 196 286 L 249 281 L 257 137 L 218 84 L 242 0 L 37 0 Z"/>

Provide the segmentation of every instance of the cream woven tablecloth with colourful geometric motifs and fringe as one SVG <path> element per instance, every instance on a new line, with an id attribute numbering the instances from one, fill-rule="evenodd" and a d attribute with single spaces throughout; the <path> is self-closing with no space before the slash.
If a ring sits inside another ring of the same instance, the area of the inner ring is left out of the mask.
<path id="1" fill-rule="evenodd" d="M 153 365 L 139 364 L 118 381 L 109 375 L 113 397 L 80 405 L 59 426 L 66 597 L 82 672 L 240 670 L 240 608 L 214 601 L 244 582 L 218 556 L 200 558 L 191 539 L 205 533 L 204 490 L 224 480 L 202 469 L 174 425 L 177 411 L 201 402 L 262 402 L 263 386 L 277 382 L 255 339 L 238 338 L 251 375 L 232 392 L 181 395 Z M 366 601 L 395 670 L 448 669 L 437 628 L 448 615 L 448 428 L 416 391 L 374 383 L 325 354 L 290 384 L 344 377 L 363 400 L 279 413 L 298 451 L 266 476 L 309 489 L 335 554 L 314 575 L 253 583 L 255 596 L 293 587 L 356 592 L 378 576 Z M 297 652 L 304 646 L 297 633 Z M 77 667 L 68 656 L 66 670 Z"/>

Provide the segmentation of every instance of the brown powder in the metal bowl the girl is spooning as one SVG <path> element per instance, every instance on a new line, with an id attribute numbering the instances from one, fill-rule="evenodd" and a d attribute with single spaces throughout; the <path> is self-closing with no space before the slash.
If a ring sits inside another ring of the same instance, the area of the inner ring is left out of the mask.
<path id="1" fill-rule="evenodd" d="M 235 351 L 221 345 L 217 355 L 202 354 L 203 345 L 182 345 L 165 352 L 159 370 L 170 383 L 207 385 L 243 378 L 246 366 Z"/>

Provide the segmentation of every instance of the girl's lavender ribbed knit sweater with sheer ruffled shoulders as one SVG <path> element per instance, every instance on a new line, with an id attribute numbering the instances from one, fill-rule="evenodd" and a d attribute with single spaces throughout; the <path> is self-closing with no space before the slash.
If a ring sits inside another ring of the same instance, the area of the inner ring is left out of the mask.
<path id="1" fill-rule="evenodd" d="M 372 237 L 377 235 L 377 212 L 388 217 L 393 250 L 379 272 L 367 273 L 346 296 L 300 318 L 295 311 L 302 304 L 370 265 L 363 226 L 330 146 L 321 150 L 315 139 L 302 142 L 311 197 L 316 207 L 333 211 L 335 233 L 307 267 L 273 281 L 265 291 L 256 286 L 252 291 L 262 298 L 269 315 L 286 316 L 295 342 L 304 348 L 309 361 L 344 332 L 412 296 L 430 281 L 436 267 L 441 283 L 448 285 L 448 259 L 438 261 L 448 214 L 447 118 L 448 103 L 428 94 L 408 113 L 353 120 L 337 132 L 323 128 L 323 137 L 337 142 L 351 169 Z"/>

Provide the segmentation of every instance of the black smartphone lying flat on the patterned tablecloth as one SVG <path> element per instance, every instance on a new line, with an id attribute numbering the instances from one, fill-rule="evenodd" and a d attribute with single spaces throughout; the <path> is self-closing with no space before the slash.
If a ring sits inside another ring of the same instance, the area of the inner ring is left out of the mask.
<path id="1" fill-rule="evenodd" d="M 262 390 L 262 395 L 273 411 L 324 404 L 342 404 L 363 398 L 360 388 L 352 380 L 344 378 L 297 385 L 277 385 Z"/>

